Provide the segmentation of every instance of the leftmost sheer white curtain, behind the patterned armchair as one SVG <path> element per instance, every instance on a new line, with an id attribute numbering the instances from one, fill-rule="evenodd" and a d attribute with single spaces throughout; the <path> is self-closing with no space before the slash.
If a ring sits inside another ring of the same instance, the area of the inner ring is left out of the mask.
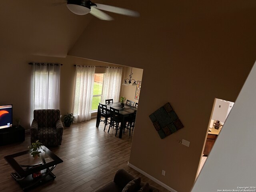
<path id="1" fill-rule="evenodd" d="M 60 65 L 32 64 L 30 89 L 30 124 L 35 109 L 59 109 Z"/>

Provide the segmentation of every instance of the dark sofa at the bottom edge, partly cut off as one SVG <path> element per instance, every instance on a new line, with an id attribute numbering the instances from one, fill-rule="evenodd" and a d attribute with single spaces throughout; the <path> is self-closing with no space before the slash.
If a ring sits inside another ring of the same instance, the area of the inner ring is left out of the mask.
<path id="1" fill-rule="evenodd" d="M 114 181 L 108 183 L 104 187 L 100 188 L 97 192 L 122 192 L 126 184 L 130 181 L 134 180 L 134 176 L 129 174 L 123 169 L 120 169 L 116 172 L 114 177 Z M 134 192 L 141 191 L 140 188 L 144 186 L 144 182 L 140 182 L 140 187 L 137 188 Z M 147 192 L 161 192 L 158 188 L 149 185 L 149 189 L 146 190 Z"/>

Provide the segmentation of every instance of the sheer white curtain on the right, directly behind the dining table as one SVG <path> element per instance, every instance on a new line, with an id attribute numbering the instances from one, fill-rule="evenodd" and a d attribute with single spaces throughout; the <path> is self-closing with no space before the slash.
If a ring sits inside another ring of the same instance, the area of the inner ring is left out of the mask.
<path id="1" fill-rule="evenodd" d="M 118 102 L 121 82 L 122 68 L 107 67 L 106 75 L 104 78 L 102 101 L 105 101 L 105 99 L 113 99 L 114 102 Z"/>

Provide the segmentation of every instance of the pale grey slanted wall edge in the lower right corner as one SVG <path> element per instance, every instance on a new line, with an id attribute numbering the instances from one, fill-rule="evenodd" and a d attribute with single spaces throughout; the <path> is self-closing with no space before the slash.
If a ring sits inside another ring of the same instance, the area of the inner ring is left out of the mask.
<path id="1" fill-rule="evenodd" d="M 202 168 L 192 192 L 254 191 L 256 181 L 256 64 Z M 213 182 L 210 182 L 213 181 Z"/>

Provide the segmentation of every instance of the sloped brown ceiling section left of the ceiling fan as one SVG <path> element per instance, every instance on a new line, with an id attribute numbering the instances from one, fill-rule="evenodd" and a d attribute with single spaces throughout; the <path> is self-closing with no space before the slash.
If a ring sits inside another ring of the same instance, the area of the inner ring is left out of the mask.
<path id="1" fill-rule="evenodd" d="M 93 16 L 78 16 L 65 0 L 0 1 L 0 50 L 65 57 Z"/>

